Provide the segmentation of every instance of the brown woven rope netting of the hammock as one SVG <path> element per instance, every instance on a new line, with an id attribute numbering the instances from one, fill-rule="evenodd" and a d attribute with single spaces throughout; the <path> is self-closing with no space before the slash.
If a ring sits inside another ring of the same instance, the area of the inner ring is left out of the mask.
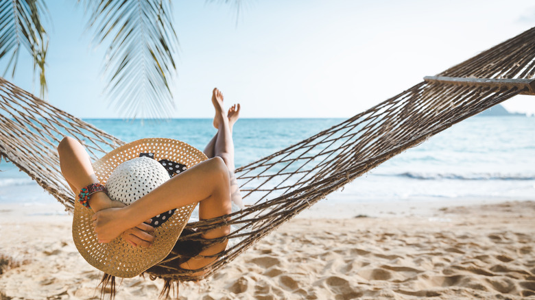
<path id="1" fill-rule="evenodd" d="M 227 236 L 230 247 L 199 273 L 178 268 L 177 251 L 147 273 L 180 281 L 208 277 L 285 221 L 392 156 L 515 95 L 535 95 L 534 73 L 535 27 L 238 168 L 243 201 L 252 205 L 228 215 L 230 221 L 224 216 L 189 223 L 187 229 L 193 230 L 178 241 L 202 240 L 206 229 L 227 223 L 233 225 Z M 63 136 L 82 141 L 93 160 L 124 142 L 1 78 L 0 95 L 0 154 L 72 211 L 73 194 L 60 173 L 56 151 Z"/>

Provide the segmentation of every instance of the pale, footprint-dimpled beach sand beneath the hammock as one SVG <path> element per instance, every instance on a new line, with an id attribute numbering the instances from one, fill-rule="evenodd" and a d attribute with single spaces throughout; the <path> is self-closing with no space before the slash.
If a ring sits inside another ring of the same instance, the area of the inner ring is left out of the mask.
<path id="1" fill-rule="evenodd" d="M 359 218 L 323 205 L 338 218 L 289 221 L 209 280 L 182 284 L 179 299 L 535 299 L 533 201 L 344 209 Z M 47 214 L 0 206 L 0 255 L 14 262 L 0 299 L 97 299 L 102 273 L 76 251 L 71 217 Z M 157 299 L 161 287 L 125 279 L 116 299 Z"/>

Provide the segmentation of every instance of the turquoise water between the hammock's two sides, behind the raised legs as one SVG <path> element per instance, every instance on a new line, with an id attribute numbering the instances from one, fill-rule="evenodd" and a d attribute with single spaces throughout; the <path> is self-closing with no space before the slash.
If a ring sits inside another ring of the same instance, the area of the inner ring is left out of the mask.
<path id="1" fill-rule="evenodd" d="M 139 120 L 85 121 L 126 142 L 147 137 L 176 138 L 201 150 L 217 132 L 211 119 L 145 121 L 143 124 Z M 236 166 L 254 162 L 342 121 L 340 118 L 241 118 L 233 130 Z"/>

